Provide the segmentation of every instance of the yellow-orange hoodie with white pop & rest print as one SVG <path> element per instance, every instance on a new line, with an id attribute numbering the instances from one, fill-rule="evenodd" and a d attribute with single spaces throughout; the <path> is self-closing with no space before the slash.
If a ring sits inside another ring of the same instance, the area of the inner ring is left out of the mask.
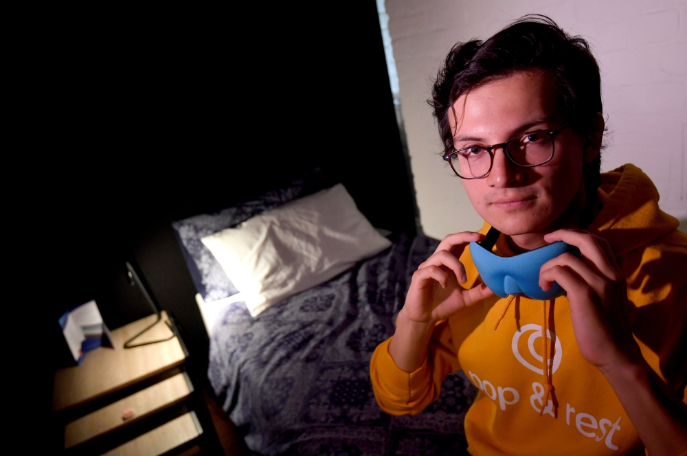
<path id="1" fill-rule="evenodd" d="M 659 209 L 655 186 L 635 166 L 602 174 L 598 194 L 602 209 L 588 230 L 610 242 L 627 278 L 629 319 L 644 358 L 683 397 L 687 235 L 676 230 L 677 219 Z M 485 224 L 480 232 L 488 228 Z M 494 251 L 514 254 L 503 236 Z M 469 248 L 460 260 L 468 277 L 465 286 L 471 288 L 480 277 Z M 370 361 L 377 402 L 392 415 L 420 413 L 438 398 L 444 378 L 463 369 L 480 389 L 464 422 L 472 455 L 641 451 L 642 442 L 613 389 L 578 350 L 567 299 L 544 306 L 553 385 L 547 403 L 542 301 L 526 297 L 484 299 L 437 323 L 429 356 L 416 372 L 396 367 L 388 350 L 391 339 L 381 343 Z"/>

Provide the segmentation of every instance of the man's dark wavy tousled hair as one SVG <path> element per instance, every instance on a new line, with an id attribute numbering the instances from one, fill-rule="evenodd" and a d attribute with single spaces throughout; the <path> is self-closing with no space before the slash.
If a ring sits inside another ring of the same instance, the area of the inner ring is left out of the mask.
<path id="1" fill-rule="evenodd" d="M 599 67 L 589 43 L 580 36 L 570 36 L 547 16 L 530 14 L 484 42 L 458 43 L 449 52 L 428 100 L 444 153 L 453 150 L 449 109 L 453 109 L 455 100 L 488 82 L 526 69 L 541 69 L 555 78 L 566 122 L 591 139 L 596 133 L 596 113 L 603 113 L 603 106 Z M 595 203 L 600 167 L 598 155 L 583 168 L 587 198 Z"/>

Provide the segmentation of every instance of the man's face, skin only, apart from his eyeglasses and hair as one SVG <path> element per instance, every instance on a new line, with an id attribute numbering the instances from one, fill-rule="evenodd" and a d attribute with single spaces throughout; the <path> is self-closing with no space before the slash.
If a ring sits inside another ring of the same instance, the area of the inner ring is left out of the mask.
<path id="1" fill-rule="evenodd" d="M 564 121 L 556 106 L 552 77 L 521 71 L 461 95 L 449 111 L 453 144 L 491 146 L 532 130 L 554 130 Z M 584 141 L 570 128 L 555 137 L 554 157 L 534 168 L 519 168 L 503 149 L 494 150 L 488 176 L 463 180 L 477 213 L 508 236 L 542 233 L 574 225 L 584 205 Z M 592 157 L 593 158 L 593 157 Z M 566 210 L 567 209 L 567 210 Z"/>

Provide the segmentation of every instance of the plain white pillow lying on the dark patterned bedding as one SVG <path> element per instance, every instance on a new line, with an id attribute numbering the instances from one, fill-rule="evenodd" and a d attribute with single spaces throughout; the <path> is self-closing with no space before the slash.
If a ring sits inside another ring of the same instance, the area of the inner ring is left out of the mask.
<path id="1" fill-rule="evenodd" d="M 391 246 L 340 183 L 201 241 L 254 317 Z"/>

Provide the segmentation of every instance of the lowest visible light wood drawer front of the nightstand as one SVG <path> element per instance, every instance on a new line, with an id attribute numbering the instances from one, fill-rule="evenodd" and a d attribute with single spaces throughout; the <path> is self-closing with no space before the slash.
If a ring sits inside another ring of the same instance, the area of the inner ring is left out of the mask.
<path id="1" fill-rule="evenodd" d="M 194 411 L 190 411 L 166 422 L 153 431 L 117 446 L 103 456 L 157 456 L 190 442 L 203 433 L 201 423 Z"/>

